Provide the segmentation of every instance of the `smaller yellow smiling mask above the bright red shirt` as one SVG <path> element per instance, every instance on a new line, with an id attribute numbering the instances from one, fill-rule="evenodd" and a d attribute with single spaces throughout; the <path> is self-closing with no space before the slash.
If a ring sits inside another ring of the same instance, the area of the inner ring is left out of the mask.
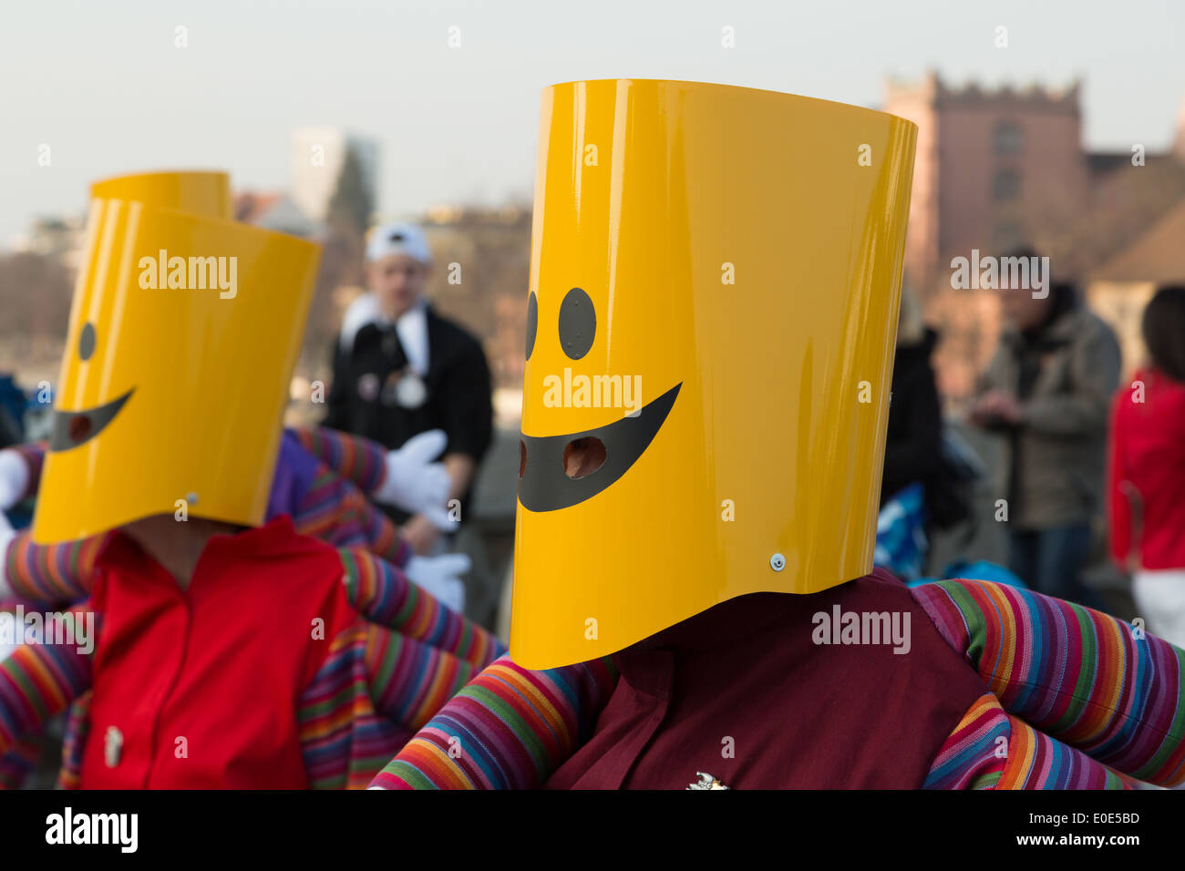
<path id="1" fill-rule="evenodd" d="M 33 539 L 261 524 L 319 246 L 230 220 L 223 173 L 91 194 Z"/>

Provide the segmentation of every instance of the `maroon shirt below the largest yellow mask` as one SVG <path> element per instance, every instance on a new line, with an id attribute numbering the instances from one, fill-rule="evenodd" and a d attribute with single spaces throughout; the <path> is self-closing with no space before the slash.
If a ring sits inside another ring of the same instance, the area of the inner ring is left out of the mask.
<path id="1" fill-rule="evenodd" d="M 816 643 L 814 615 L 835 606 L 896 613 L 902 629 L 908 615 L 908 653 L 885 639 Z M 614 660 L 621 679 L 596 731 L 547 789 L 681 789 L 698 771 L 742 789 L 917 788 L 987 692 L 882 570 L 806 596 L 739 596 Z"/>

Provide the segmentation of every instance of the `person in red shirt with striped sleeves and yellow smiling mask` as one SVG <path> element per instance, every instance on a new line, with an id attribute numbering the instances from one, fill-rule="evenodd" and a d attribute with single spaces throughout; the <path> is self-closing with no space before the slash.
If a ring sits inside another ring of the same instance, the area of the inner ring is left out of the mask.
<path id="1" fill-rule="evenodd" d="M 294 438 L 273 487 L 318 249 L 235 222 L 223 173 L 91 193 L 30 540 L 101 544 L 88 598 L 0 622 L 0 755 L 69 706 L 63 786 L 365 786 L 499 646 L 296 530 Z"/>

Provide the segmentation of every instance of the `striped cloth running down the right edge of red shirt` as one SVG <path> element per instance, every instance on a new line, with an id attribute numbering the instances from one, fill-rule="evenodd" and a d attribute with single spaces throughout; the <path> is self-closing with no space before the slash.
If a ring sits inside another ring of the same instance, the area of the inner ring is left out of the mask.
<path id="1" fill-rule="evenodd" d="M 365 788 L 415 731 L 379 716 L 371 702 L 372 628 L 359 621 L 339 633 L 297 703 L 297 737 L 313 789 Z"/>

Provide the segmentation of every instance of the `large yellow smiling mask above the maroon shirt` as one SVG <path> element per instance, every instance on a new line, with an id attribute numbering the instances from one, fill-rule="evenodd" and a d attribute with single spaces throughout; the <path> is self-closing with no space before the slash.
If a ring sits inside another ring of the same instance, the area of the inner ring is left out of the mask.
<path id="1" fill-rule="evenodd" d="M 540 127 L 514 660 L 871 571 L 916 127 L 658 81 Z"/>

